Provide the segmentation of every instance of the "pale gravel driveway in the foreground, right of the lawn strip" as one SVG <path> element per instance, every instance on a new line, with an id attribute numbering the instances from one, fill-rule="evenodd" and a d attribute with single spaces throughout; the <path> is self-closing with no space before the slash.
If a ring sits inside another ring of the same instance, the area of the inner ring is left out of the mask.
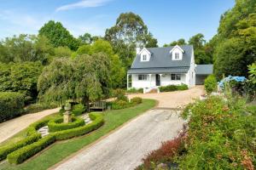
<path id="1" fill-rule="evenodd" d="M 55 169 L 134 169 L 150 150 L 177 136 L 182 123 L 177 111 L 147 111 L 105 139 L 62 161 Z"/>

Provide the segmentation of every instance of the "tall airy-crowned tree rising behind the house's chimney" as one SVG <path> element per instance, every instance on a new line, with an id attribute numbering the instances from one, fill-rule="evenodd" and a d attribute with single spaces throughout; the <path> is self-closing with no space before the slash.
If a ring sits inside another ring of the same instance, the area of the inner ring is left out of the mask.
<path id="1" fill-rule="evenodd" d="M 156 39 L 148 33 L 143 19 L 133 13 L 122 13 L 113 27 L 106 30 L 105 39 L 113 44 L 115 53 L 126 67 L 131 65 L 136 47 L 155 47 Z"/>

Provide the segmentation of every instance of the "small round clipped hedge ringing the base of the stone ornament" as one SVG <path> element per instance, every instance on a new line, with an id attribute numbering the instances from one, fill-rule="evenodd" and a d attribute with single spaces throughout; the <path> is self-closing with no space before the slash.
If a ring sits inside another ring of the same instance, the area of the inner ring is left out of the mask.
<path id="1" fill-rule="evenodd" d="M 81 126 L 84 126 L 84 119 L 80 117 L 72 117 L 72 122 L 68 123 L 63 122 L 63 117 L 58 117 L 48 122 L 49 132 L 57 132 Z"/>

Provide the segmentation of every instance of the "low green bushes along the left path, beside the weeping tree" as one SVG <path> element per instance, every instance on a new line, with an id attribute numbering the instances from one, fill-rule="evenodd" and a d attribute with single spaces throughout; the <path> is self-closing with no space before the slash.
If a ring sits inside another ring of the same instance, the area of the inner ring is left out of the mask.
<path id="1" fill-rule="evenodd" d="M 44 111 L 47 109 L 55 109 L 56 107 L 58 107 L 58 105 L 55 103 L 50 103 L 50 104 L 37 103 L 37 104 L 28 105 L 25 108 L 25 111 L 26 113 L 36 113 L 36 112 Z"/>

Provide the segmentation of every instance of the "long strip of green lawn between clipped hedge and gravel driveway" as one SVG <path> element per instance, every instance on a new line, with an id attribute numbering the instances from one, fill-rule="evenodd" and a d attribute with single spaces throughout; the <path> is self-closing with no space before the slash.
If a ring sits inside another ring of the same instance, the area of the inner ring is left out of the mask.
<path id="1" fill-rule="evenodd" d="M 131 118 L 142 114 L 144 111 L 147 111 L 150 108 L 153 108 L 155 104 L 155 100 L 143 99 L 142 104 L 131 108 L 116 111 L 106 111 L 104 112 L 105 124 L 98 130 L 83 137 L 52 144 L 48 150 L 44 150 L 44 152 L 40 155 L 35 156 L 29 161 L 26 161 L 18 166 L 10 165 L 8 162 L 5 162 L 0 165 L 0 169 L 47 169 L 55 165 L 57 162 L 63 160 L 65 157 L 70 156 L 74 152 L 82 149 L 87 144 L 90 144 L 96 141 L 96 139 L 99 139 L 105 134 L 113 131 L 113 129 L 131 120 Z"/>

